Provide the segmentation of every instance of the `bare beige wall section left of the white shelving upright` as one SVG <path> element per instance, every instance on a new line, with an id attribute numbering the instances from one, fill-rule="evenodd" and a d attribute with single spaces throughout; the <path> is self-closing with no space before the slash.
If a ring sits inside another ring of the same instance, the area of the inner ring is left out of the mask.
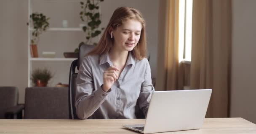
<path id="1" fill-rule="evenodd" d="M 27 87 L 27 0 L 0 0 L 0 86 Z"/>

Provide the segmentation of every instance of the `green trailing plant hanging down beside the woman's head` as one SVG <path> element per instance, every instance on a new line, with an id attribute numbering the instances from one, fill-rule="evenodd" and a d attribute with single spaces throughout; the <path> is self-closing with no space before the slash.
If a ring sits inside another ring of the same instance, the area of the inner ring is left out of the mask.
<path id="1" fill-rule="evenodd" d="M 101 18 L 99 13 L 99 4 L 103 1 L 104 0 L 84 0 L 80 2 L 82 10 L 79 15 L 81 21 L 85 24 L 85 26 L 83 26 L 86 39 L 85 44 L 96 45 L 97 43 L 92 42 L 92 38 L 99 36 L 101 31 L 104 30 L 104 28 L 100 28 Z M 84 42 L 80 44 L 84 44 Z M 78 53 L 78 48 L 75 49 L 76 53 Z"/>

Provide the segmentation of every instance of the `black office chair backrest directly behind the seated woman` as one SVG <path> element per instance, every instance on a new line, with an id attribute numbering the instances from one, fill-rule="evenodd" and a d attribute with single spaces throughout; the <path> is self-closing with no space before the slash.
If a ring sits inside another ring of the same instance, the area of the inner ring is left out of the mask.
<path id="1" fill-rule="evenodd" d="M 69 119 L 78 119 L 75 108 L 75 90 L 76 90 L 76 78 L 77 73 L 75 68 L 79 70 L 81 62 L 83 62 L 83 57 L 88 54 L 94 48 L 93 45 L 81 44 L 79 47 L 78 59 L 71 63 L 69 70 Z"/>

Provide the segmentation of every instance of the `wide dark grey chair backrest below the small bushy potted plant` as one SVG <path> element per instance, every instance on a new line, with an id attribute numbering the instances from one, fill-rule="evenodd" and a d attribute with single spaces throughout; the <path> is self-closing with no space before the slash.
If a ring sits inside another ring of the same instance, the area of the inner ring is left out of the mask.
<path id="1" fill-rule="evenodd" d="M 24 119 L 69 119 L 68 88 L 26 88 Z"/>

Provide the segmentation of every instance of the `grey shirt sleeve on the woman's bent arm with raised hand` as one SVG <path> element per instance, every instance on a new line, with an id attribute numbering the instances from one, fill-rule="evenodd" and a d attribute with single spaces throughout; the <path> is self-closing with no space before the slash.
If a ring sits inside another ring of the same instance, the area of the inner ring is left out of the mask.
<path id="1" fill-rule="evenodd" d="M 75 107 L 79 119 L 90 117 L 105 101 L 109 93 L 104 92 L 101 85 L 97 85 L 99 86 L 97 87 L 98 90 L 95 90 L 92 74 L 90 59 L 85 57 L 80 65 L 76 80 Z"/>

